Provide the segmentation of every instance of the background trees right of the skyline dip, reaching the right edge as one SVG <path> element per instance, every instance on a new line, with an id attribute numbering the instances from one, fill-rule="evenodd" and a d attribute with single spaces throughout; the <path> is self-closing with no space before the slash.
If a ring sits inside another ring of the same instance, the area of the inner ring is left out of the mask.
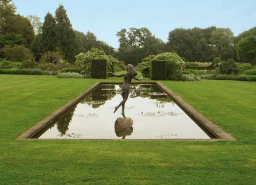
<path id="1" fill-rule="evenodd" d="M 256 27 L 244 31 L 237 37 L 229 28 L 216 26 L 200 29 L 178 28 L 169 32 L 165 43 L 146 29 L 131 28 L 117 32 L 119 49 L 117 58 L 137 65 L 148 55 L 176 52 L 188 62 L 212 62 L 216 57 L 222 61 L 256 64 Z"/>

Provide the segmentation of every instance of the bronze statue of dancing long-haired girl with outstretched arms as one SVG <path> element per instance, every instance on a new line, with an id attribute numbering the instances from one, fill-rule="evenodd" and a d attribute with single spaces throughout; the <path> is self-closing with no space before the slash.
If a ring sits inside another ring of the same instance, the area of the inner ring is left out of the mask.
<path id="1" fill-rule="evenodd" d="M 109 72 L 110 74 L 113 74 L 114 76 L 116 77 L 122 77 L 123 76 L 123 86 L 122 86 L 122 97 L 123 97 L 123 100 L 120 102 L 119 105 L 117 105 L 115 107 L 115 111 L 114 113 L 117 111 L 117 109 L 122 105 L 122 115 L 123 115 L 123 118 L 126 118 L 125 114 L 124 114 L 124 105 L 125 105 L 125 102 L 126 100 L 128 99 L 129 97 L 129 93 L 130 93 L 130 85 L 131 85 L 131 82 L 132 82 L 132 79 L 135 79 L 135 80 L 142 80 L 142 78 L 137 78 L 137 72 L 134 68 L 133 65 L 129 64 L 126 66 L 126 70 L 127 70 L 127 73 L 126 74 L 115 74 L 115 73 L 111 73 Z"/>

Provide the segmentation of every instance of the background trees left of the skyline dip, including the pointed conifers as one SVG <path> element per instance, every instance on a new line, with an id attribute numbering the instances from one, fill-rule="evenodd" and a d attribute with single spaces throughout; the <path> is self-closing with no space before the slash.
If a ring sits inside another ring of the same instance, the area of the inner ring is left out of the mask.
<path id="1" fill-rule="evenodd" d="M 63 5 L 58 6 L 55 15 L 47 12 L 41 23 L 37 16 L 16 14 L 12 0 L 0 0 L 0 58 L 20 62 L 32 53 L 38 62 L 44 54 L 53 52 L 74 63 L 76 55 L 92 48 L 99 48 L 107 55 L 115 52 L 106 42 L 99 41 L 94 33 L 74 30 Z"/>

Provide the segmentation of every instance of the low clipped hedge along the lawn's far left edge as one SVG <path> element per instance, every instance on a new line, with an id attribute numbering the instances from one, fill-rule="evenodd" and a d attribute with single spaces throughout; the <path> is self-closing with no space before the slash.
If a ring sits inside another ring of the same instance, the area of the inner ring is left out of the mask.
<path id="1" fill-rule="evenodd" d="M 50 74 L 41 69 L 0 69 L 0 74 Z"/>

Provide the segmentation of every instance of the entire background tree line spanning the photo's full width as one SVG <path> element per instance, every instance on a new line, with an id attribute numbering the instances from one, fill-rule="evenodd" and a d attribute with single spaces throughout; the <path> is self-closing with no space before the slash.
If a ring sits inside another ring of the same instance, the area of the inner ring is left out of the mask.
<path id="1" fill-rule="evenodd" d="M 122 29 L 116 35 L 118 49 L 97 40 L 90 31 L 84 34 L 74 30 L 63 5 L 58 6 L 55 15 L 48 12 L 41 23 L 37 16 L 17 14 L 12 0 L 0 0 L 0 58 L 17 60 L 26 55 L 32 59 L 33 55 L 38 62 L 47 52 L 55 52 L 65 61 L 74 63 L 80 52 L 98 48 L 106 55 L 133 65 L 146 56 L 162 52 L 176 52 L 189 62 L 212 62 L 219 57 L 256 64 L 256 27 L 237 37 L 229 28 L 216 26 L 178 28 L 169 31 L 167 42 L 155 37 L 147 28 Z"/>

